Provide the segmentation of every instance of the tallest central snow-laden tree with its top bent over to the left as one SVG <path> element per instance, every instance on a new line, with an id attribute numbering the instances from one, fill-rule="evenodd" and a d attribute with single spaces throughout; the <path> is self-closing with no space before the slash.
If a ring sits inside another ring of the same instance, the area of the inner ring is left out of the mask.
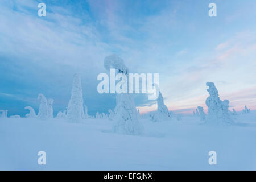
<path id="1" fill-rule="evenodd" d="M 114 68 L 116 73 L 122 74 L 128 80 L 128 69 L 123 63 L 123 60 L 117 55 L 113 54 L 105 57 L 104 67 L 107 70 Z M 134 98 L 132 94 L 117 93 L 117 105 L 115 106 L 114 126 L 115 133 L 141 135 L 143 126 L 138 121 L 137 109 L 135 107 Z"/>

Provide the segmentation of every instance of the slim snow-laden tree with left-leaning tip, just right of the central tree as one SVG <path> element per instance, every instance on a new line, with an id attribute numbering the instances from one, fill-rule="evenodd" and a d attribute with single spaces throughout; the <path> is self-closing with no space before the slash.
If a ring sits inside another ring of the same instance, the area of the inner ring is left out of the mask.
<path id="1" fill-rule="evenodd" d="M 158 103 L 158 111 L 156 117 L 158 118 L 158 121 L 170 119 L 171 114 L 169 113 L 167 106 L 164 104 L 162 93 L 160 92 L 158 85 L 154 85 L 156 86 L 156 89 L 158 89 L 159 92 L 158 98 L 156 100 Z"/>

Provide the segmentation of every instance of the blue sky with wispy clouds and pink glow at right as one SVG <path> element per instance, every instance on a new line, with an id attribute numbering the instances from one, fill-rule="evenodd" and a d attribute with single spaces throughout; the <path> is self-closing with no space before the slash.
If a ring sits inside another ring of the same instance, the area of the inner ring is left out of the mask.
<path id="1" fill-rule="evenodd" d="M 46 4 L 46 17 L 38 4 Z M 210 17 L 209 3 L 217 16 Z M 38 94 L 53 98 L 55 115 L 67 108 L 72 75 L 79 73 L 88 113 L 108 113 L 115 94 L 99 94 L 104 58 L 123 59 L 130 73 L 159 73 L 164 103 L 192 113 L 214 82 L 237 111 L 256 109 L 256 3 L 254 0 L 0 1 L 0 110 L 22 117 Z M 155 100 L 135 94 L 141 113 Z"/>

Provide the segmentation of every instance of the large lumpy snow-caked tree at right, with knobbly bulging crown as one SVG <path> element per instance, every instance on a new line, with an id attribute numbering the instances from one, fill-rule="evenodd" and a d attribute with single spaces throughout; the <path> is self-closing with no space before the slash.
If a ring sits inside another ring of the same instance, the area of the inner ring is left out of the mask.
<path id="1" fill-rule="evenodd" d="M 207 122 L 233 123 L 228 112 L 229 101 L 220 100 L 220 97 L 218 97 L 218 90 L 216 89 L 213 82 L 207 82 L 206 85 L 209 86 L 209 89 L 207 89 L 207 91 L 210 94 L 210 96 L 206 100 L 206 105 L 208 107 Z"/>

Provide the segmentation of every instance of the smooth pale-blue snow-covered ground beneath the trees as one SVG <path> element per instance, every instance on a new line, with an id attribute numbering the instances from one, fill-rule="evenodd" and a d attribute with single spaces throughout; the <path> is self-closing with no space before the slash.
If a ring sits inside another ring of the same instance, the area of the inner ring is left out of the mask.
<path id="1" fill-rule="evenodd" d="M 0 169 L 14 170 L 256 170 L 256 113 L 236 125 L 209 126 L 199 117 L 151 122 L 143 136 L 111 132 L 112 121 L 0 118 Z M 38 152 L 46 151 L 46 165 Z M 209 151 L 217 164 L 208 163 Z"/>

